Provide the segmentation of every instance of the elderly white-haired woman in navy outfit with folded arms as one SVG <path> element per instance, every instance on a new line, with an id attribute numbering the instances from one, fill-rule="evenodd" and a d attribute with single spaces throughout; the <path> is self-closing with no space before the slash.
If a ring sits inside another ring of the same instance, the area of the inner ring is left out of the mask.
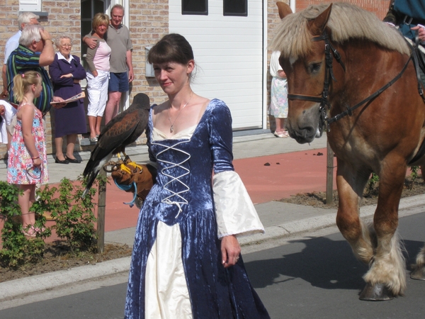
<path id="1" fill-rule="evenodd" d="M 55 61 L 49 67 L 55 96 L 69 99 L 81 93 L 79 84 L 86 78 L 86 70 L 82 67 L 79 57 L 71 55 L 72 40 L 67 35 L 60 35 L 56 39 Z M 79 99 L 67 103 L 63 108 L 55 110 L 55 146 L 56 159 L 59 164 L 80 163 L 74 157 L 74 145 L 77 134 L 87 133 L 84 100 Z M 62 152 L 63 137 L 67 136 L 67 153 Z"/>

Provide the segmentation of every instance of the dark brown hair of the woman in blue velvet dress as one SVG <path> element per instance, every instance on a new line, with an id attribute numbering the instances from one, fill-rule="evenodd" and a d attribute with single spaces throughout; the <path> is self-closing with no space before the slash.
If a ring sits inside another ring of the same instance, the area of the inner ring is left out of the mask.
<path id="1" fill-rule="evenodd" d="M 176 62 L 187 65 L 193 60 L 193 50 L 188 40 L 177 33 L 164 35 L 159 42 L 149 50 L 147 62 L 159 64 L 164 62 Z"/>

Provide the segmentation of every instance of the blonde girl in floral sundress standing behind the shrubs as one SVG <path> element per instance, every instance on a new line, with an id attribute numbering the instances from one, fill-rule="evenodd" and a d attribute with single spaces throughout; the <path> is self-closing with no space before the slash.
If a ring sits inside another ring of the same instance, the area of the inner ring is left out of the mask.
<path id="1" fill-rule="evenodd" d="M 42 113 L 33 103 L 40 96 L 42 78 L 38 72 L 28 71 L 17 74 L 13 82 L 13 95 L 21 103 L 8 155 L 7 181 L 23 191 L 18 196 L 23 233 L 35 237 L 40 229 L 34 227 L 35 214 L 30 213 L 30 205 L 35 201 L 36 184 L 46 183 L 49 179 Z"/>

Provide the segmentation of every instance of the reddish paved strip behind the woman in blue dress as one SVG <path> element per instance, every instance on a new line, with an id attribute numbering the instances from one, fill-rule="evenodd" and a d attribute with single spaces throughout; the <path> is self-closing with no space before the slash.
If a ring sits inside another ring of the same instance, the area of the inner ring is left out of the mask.
<path id="1" fill-rule="evenodd" d="M 336 159 L 334 162 L 336 166 Z M 266 163 L 270 165 L 264 165 Z M 325 191 L 326 163 L 326 149 L 321 149 L 235 159 L 234 169 L 244 181 L 252 201 L 266 203 L 297 193 Z M 335 176 L 336 168 L 334 170 Z M 106 186 L 106 232 L 135 227 L 139 209 L 123 204 L 131 200 L 132 194 L 118 189 L 112 180 Z M 97 203 L 97 196 L 95 201 Z M 2 226 L 0 222 L 0 229 Z M 51 237 L 49 241 L 54 239 Z"/>

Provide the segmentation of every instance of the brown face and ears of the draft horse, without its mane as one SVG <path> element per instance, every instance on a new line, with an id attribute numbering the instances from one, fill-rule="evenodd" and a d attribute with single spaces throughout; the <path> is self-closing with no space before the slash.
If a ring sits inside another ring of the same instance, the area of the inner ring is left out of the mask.
<path id="1" fill-rule="evenodd" d="M 282 2 L 278 3 L 278 7 L 280 18 L 288 16 L 288 11 L 282 9 Z M 308 40 L 312 41 L 314 36 L 324 33 L 330 13 L 331 5 L 317 18 L 308 20 Z M 320 110 L 326 71 L 324 43 L 309 43 L 309 50 L 301 55 L 291 54 L 288 57 L 282 54 L 279 63 L 288 78 L 288 132 L 299 143 L 312 142 L 322 136 L 324 127 Z M 309 96 L 313 99 L 309 100 Z"/>

